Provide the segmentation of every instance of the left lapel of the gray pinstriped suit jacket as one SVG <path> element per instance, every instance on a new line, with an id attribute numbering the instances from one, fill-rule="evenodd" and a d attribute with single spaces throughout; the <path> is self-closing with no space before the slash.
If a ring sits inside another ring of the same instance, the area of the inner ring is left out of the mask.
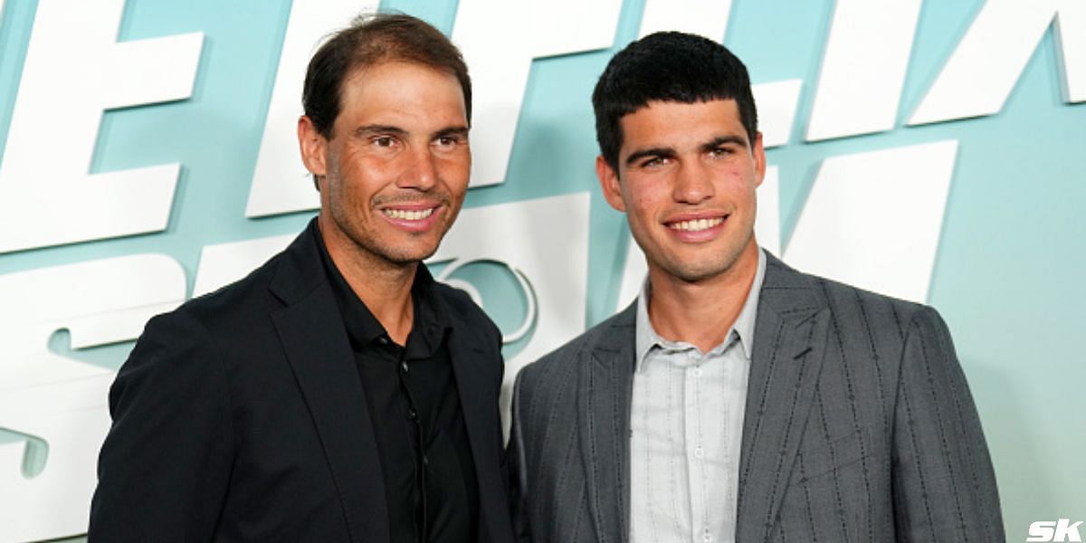
<path id="1" fill-rule="evenodd" d="M 591 517 L 601 543 L 629 539 L 630 402 L 636 302 L 602 327 L 581 358 L 578 431 Z"/>

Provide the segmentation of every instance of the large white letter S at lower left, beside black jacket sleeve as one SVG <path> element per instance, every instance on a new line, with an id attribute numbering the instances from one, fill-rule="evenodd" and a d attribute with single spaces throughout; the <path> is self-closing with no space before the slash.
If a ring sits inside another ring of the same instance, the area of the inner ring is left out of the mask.
<path id="1" fill-rule="evenodd" d="M 180 264 L 160 254 L 0 276 L 0 428 L 49 447 L 42 471 L 27 477 L 25 443 L 0 445 L 0 541 L 87 531 L 114 374 L 54 354 L 49 338 L 66 329 L 73 350 L 136 339 L 185 289 Z"/>

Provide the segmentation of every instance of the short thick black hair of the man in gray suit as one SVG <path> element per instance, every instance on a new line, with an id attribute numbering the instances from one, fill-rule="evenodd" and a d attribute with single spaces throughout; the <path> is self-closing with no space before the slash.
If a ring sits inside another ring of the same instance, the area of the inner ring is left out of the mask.
<path id="1" fill-rule="evenodd" d="M 622 148 L 619 121 L 648 102 L 729 99 L 738 105 L 740 122 L 753 144 L 758 135 L 758 111 L 743 61 L 724 46 L 700 36 L 677 31 L 645 36 L 607 63 L 592 91 L 599 154 L 618 171 Z"/>

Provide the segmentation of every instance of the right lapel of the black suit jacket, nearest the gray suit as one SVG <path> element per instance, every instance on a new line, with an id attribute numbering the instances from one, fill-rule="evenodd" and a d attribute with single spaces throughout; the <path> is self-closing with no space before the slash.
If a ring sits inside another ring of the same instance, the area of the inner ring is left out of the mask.
<path id="1" fill-rule="evenodd" d="M 475 460 L 476 478 L 479 481 L 479 512 L 484 525 L 479 527 L 480 535 L 484 530 L 490 538 L 480 536 L 481 541 L 494 541 L 496 534 L 503 533 L 498 522 L 507 518 L 507 504 L 494 500 L 493 492 L 504 492 L 498 451 L 502 437 L 496 434 L 501 427 L 497 414 L 497 395 L 494 394 L 493 376 L 480 367 L 480 361 L 489 361 L 501 356 L 497 352 L 488 354 L 481 346 L 482 338 L 477 338 L 465 330 L 464 326 L 454 328 L 449 336 L 449 356 L 453 364 L 453 375 L 456 378 L 456 390 L 460 399 L 460 409 L 464 412 L 464 426 L 468 432 L 468 444 L 471 446 L 471 458 Z M 503 509 L 503 510 L 495 510 Z"/>

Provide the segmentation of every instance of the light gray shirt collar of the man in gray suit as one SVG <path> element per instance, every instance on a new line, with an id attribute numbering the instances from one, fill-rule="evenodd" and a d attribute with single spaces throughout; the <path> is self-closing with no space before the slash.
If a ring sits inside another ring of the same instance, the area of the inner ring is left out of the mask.
<path id="1" fill-rule="evenodd" d="M 765 279 L 766 255 L 762 254 L 761 248 L 759 248 L 758 268 L 754 275 L 754 282 L 750 283 L 750 290 L 747 292 L 746 301 L 743 303 L 743 308 L 740 310 L 740 314 L 735 318 L 735 323 L 732 324 L 732 329 L 724 336 L 724 341 L 712 348 L 712 350 L 709 351 L 710 353 L 723 352 L 723 350 L 727 349 L 732 341 L 736 341 L 737 338 L 737 341 L 742 345 L 743 353 L 746 355 L 747 359 L 754 357 L 754 327 L 756 317 L 758 316 L 758 298 L 761 295 L 761 283 Z M 694 345 L 685 341 L 669 341 L 656 333 L 656 329 L 653 328 L 653 323 L 648 318 L 648 295 L 651 293 L 652 285 L 649 285 L 648 277 L 646 276 L 641 286 L 641 293 L 637 294 L 637 316 L 635 328 L 637 370 L 641 369 L 642 363 L 653 348 L 696 349 Z"/>

